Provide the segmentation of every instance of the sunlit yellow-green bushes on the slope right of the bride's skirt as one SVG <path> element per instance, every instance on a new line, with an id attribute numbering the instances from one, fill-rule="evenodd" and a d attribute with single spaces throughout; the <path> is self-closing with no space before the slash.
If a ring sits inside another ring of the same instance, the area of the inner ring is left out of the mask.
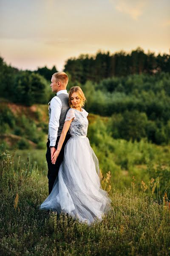
<path id="1" fill-rule="evenodd" d="M 88 138 L 103 173 L 110 171 L 113 183 L 119 184 L 120 190 L 124 186 L 130 186 L 132 176 L 136 177 L 137 183 L 141 183 L 141 180 L 149 180 L 151 177 L 155 179 L 159 177 L 160 172 L 152 172 L 150 175 L 147 167 L 150 164 L 169 168 L 169 148 L 163 149 L 148 143 L 146 139 L 141 139 L 139 142 L 114 139 L 109 129 L 110 120 L 106 122 L 98 118 L 89 125 Z M 167 179 L 169 177 L 167 175 Z M 170 186 L 167 186 L 163 180 L 161 179 L 161 196 L 166 189 L 170 192 Z"/>

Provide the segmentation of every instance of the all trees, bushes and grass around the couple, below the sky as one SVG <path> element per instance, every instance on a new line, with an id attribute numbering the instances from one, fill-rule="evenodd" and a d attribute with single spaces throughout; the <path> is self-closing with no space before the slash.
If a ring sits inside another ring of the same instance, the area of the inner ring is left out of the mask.
<path id="1" fill-rule="evenodd" d="M 48 195 L 48 102 L 54 66 L 0 58 L 0 253 L 170 255 L 170 55 L 97 52 L 65 63 L 87 98 L 88 138 L 111 211 L 91 227 L 40 211 Z"/>

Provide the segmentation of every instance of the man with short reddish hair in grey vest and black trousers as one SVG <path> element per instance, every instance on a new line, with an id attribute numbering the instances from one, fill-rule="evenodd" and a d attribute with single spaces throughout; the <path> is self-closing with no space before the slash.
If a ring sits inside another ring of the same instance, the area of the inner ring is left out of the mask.
<path id="1" fill-rule="evenodd" d="M 47 142 L 47 153 L 46 160 L 48 163 L 48 192 L 52 191 L 54 181 L 59 172 L 59 166 L 63 161 L 64 147 L 67 143 L 70 135 L 67 134 L 65 141 L 62 145 L 62 149 L 59 153 L 55 164 L 51 163 L 52 156 L 57 149 L 57 143 L 62 132 L 66 113 L 69 109 L 68 106 L 68 93 L 66 86 L 68 84 L 68 76 L 64 72 L 57 72 L 52 75 L 51 78 L 51 89 L 53 93 L 57 93 L 51 99 L 49 105 L 49 125 L 48 125 L 48 142 Z"/>

